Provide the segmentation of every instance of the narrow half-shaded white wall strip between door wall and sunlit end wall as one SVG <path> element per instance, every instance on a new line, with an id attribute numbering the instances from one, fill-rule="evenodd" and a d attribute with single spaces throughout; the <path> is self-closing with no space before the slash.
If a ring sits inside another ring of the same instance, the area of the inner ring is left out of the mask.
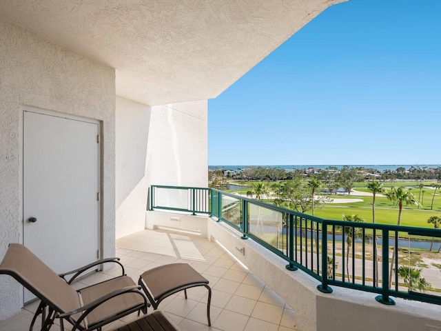
<path id="1" fill-rule="evenodd" d="M 116 238 L 145 228 L 150 110 L 116 97 Z"/>

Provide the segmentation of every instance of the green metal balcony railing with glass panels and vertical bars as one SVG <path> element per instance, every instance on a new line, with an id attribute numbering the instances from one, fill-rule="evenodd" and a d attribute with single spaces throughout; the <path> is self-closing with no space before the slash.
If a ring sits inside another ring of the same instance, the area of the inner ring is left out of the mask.
<path id="1" fill-rule="evenodd" d="M 321 292 L 336 285 L 379 294 L 376 299 L 389 305 L 395 304 L 391 297 L 441 304 L 438 229 L 320 219 L 209 188 L 153 185 L 154 209 L 210 214 L 285 259 L 288 270 L 303 270 L 320 281 Z M 417 265 L 424 255 L 433 257 L 428 268 Z M 422 292 L 418 280 L 399 277 L 399 268 L 422 269 L 430 288 Z"/>

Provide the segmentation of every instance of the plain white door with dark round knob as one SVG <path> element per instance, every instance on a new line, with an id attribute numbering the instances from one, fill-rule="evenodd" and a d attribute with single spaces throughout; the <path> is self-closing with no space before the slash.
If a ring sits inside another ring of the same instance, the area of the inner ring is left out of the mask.
<path id="1" fill-rule="evenodd" d="M 61 116 L 23 112 L 23 243 L 57 273 L 96 261 L 100 223 L 99 123 Z"/>

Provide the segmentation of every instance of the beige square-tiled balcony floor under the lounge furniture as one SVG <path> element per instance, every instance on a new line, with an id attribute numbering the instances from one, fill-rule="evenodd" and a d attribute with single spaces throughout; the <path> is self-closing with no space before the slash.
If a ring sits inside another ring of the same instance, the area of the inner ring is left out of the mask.
<path id="1" fill-rule="evenodd" d="M 220 245 L 193 234 L 144 230 L 118 239 L 116 255 L 121 257 L 125 272 L 137 283 L 139 274 L 167 263 L 189 263 L 209 280 L 212 288 L 212 327 L 207 326 L 207 289 L 192 288 L 174 294 L 159 309 L 182 331 L 289 331 L 296 330 L 294 311 L 268 288 L 263 281 L 241 265 Z M 118 268 L 95 272 L 76 282 L 81 288 L 112 277 Z M 0 321 L 0 331 L 28 330 L 38 303 L 26 305 L 21 312 Z M 149 309 L 152 312 L 152 308 Z M 136 314 L 115 321 L 103 330 L 112 330 Z M 59 330 L 53 327 L 53 330 Z M 37 329 L 35 329 L 37 330 Z"/>

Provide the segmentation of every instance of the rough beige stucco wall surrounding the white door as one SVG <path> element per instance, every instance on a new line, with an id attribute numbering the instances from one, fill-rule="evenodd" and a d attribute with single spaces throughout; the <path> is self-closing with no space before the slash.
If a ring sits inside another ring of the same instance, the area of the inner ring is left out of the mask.
<path id="1" fill-rule="evenodd" d="M 114 255 L 115 73 L 0 20 L 0 257 L 22 242 L 21 110 L 34 106 L 103 123 L 103 252 Z M 21 308 L 21 291 L 0 276 L 0 320 Z"/>

